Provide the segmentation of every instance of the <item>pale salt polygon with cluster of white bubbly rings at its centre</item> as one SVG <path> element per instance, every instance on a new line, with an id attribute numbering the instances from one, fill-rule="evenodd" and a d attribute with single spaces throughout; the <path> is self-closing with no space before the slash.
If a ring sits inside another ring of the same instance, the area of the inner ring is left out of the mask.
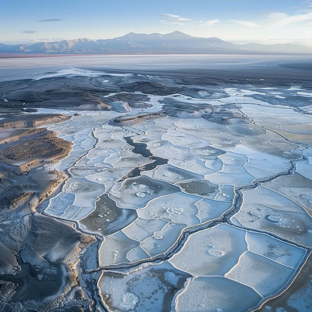
<path id="1" fill-rule="evenodd" d="M 202 197 L 177 193 L 160 196 L 151 200 L 146 207 L 138 209 L 138 216 L 143 219 L 162 219 L 167 222 L 197 225 L 198 209 L 195 203 Z"/>

